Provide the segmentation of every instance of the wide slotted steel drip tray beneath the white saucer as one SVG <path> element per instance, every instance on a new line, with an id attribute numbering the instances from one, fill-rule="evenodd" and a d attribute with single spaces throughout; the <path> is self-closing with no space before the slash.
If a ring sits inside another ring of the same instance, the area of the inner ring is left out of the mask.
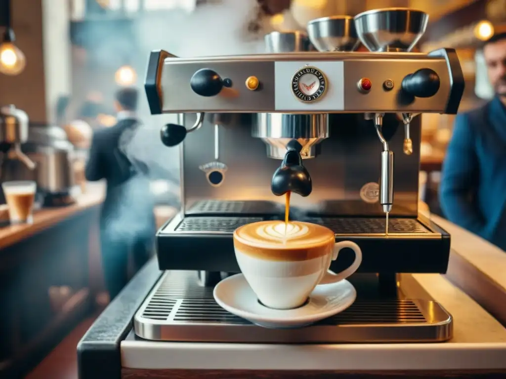
<path id="1" fill-rule="evenodd" d="M 267 329 L 232 315 L 201 287 L 195 271 L 166 271 L 134 317 L 147 340 L 236 343 L 404 343 L 451 338 L 452 318 L 427 300 L 360 299 L 299 329 Z"/>

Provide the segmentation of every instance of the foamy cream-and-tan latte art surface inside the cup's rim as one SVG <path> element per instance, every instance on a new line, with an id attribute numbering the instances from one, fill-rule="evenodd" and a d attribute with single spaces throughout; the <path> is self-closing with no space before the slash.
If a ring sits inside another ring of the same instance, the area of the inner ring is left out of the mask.
<path id="1" fill-rule="evenodd" d="M 312 248 L 334 241 L 334 233 L 324 226 L 302 221 L 260 221 L 243 225 L 234 239 L 251 247 L 274 249 Z"/>

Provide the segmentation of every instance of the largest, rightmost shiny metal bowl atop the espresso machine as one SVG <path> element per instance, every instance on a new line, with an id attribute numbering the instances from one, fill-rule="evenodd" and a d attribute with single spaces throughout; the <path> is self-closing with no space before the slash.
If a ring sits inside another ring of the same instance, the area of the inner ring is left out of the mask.
<path id="1" fill-rule="evenodd" d="M 385 8 L 355 16 L 355 28 L 371 52 L 409 52 L 425 33 L 429 15 L 410 8 Z"/>

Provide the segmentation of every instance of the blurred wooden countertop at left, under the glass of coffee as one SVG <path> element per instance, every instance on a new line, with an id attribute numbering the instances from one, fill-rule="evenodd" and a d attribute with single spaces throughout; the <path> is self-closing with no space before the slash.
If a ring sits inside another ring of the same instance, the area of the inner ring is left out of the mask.
<path id="1" fill-rule="evenodd" d="M 0 250 L 14 245 L 37 232 L 48 229 L 79 212 L 101 205 L 103 199 L 104 196 L 100 192 L 83 194 L 76 198 L 75 204 L 67 207 L 43 208 L 35 211 L 32 224 L 0 227 Z"/>

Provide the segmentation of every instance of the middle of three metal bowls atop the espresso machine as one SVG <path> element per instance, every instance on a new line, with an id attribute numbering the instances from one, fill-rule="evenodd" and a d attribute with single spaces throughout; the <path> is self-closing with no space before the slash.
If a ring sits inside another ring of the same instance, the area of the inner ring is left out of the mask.
<path id="1" fill-rule="evenodd" d="M 319 52 L 352 52 L 360 40 L 351 16 L 331 16 L 311 20 L 308 23 L 311 43 Z"/>

